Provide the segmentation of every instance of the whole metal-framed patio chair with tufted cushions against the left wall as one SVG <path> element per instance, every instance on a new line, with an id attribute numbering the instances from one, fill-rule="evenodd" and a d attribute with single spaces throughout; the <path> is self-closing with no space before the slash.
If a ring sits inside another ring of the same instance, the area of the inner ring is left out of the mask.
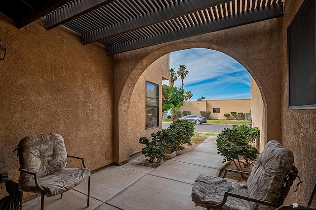
<path id="1" fill-rule="evenodd" d="M 59 134 L 49 133 L 28 136 L 18 145 L 20 160 L 20 210 L 23 206 L 23 192 L 41 194 L 40 209 L 44 209 L 44 196 L 51 197 L 74 188 L 88 179 L 87 207 L 90 199 L 90 170 L 83 158 L 67 155 L 64 139 Z M 83 168 L 66 168 L 67 157 L 82 161 Z"/>

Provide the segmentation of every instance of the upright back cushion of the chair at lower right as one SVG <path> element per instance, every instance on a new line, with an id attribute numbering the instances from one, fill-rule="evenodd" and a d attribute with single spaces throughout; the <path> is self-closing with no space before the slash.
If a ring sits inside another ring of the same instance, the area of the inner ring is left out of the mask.
<path id="1" fill-rule="evenodd" d="M 256 163 L 247 180 L 247 189 L 250 197 L 269 202 L 278 202 L 283 180 L 293 167 L 294 156 L 292 151 L 284 148 L 273 140 L 267 143 L 265 149 L 257 157 Z M 251 202 L 252 209 L 267 209 Z"/>

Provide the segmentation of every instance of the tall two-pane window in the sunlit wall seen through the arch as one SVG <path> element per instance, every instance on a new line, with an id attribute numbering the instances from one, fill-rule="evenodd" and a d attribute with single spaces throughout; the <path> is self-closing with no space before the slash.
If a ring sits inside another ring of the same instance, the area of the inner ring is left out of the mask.
<path id="1" fill-rule="evenodd" d="M 146 81 L 146 129 L 158 127 L 159 85 Z"/>

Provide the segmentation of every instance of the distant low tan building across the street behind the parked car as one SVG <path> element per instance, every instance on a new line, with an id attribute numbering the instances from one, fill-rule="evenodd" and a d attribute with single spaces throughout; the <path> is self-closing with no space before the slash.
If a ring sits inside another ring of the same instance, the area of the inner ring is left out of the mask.
<path id="1" fill-rule="evenodd" d="M 250 99 L 203 99 L 201 101 L 185 101 L 179 111 L 181 114 L 183 111 L 190 111 L 192 115 L 201 115 L 200 111 L 210 111 L 211 119 L 226 120 L 227 118 L 224 116 L 226 113 L 249 113 Z M 233 119 L 231 114 L 229 119 Z"/>

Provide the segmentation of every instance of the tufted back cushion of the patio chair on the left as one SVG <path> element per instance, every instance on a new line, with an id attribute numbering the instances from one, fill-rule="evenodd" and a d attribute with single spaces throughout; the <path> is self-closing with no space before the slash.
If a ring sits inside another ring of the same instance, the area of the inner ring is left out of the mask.
<path id="1" fill-rule="evenodd" d="M 65 168 L 67 163 L 64 139 L 54 133 L 25 137 L 19 142 L 18 156 L 20 169 L 35 172 L 39 178 Z M 19 184 L 33 179 L 33 175 L 21 172 Z"/>

